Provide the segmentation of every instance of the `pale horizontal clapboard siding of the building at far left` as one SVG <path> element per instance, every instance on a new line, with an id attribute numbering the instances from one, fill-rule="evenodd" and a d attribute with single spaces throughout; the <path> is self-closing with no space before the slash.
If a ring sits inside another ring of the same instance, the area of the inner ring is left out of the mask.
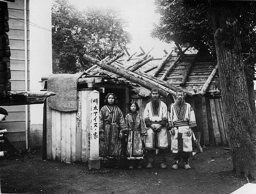
<path id="1" fill-rule="evenodd" d="M 27 6 L 29 1 L 27 1 Z M 29 7 L 29 6 L 28 6 Z M 29 10 L 27 8 L 27 10 Z M 11 86 L 12 91 L 25 91 L 25 47 L 24 47 L 24 1 L 8 2 L 9 29 L 7 32 L 10 42 L 11 57 Z M 27 11 L 29 20 L 29 11 Z M 28 90 L 29 90 L 29 25 L 28 25 Z M 18 150 L 26 149 L 25 129 L 25 105 L 2 106 L 8 111 L 1 128 L 7 129 L 5 136 Z M 30 123 L 30 111 L 28 107 L 28 123 Z"/>

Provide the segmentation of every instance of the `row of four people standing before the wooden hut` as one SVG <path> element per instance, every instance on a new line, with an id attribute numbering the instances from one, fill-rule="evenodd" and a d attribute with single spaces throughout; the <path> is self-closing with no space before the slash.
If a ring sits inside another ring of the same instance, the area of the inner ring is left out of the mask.
<path id="1" fill-rule="evenodd" d="M 130 113 L 125 119 L 119 107 L 116 96 L 108 93 L 106 104 L 100 110 L 100 148 L 99 157 L 105 163 L 110 162 L 114 168 L 119 168 L 121 139 L 128 134 L 126 158 L 131 161 L 129 169 L 134 165 L 141 168 L 143 146 L 147 150 L 146 168 L 154 167 L 155 150 L 159 150 L 158 160 L 162 169 L 166 169 L 165 151 L 168 148 L 167 130 L 171 130 L 171 154 L 174 159 L 172 169 L 178 169 L 181 158 L 185 169 L 190 169 L 188 159 L 192 156 L 192 128 L 196 127 L 194 110 L 185 102 L 183 90 L 178 90 L 175 103 L 167 111 L 167 106 L 159 99 L 159 90 L 151 90 L 151 101 L 144 110 L 144 122 L 137 113 L 136 102 L 129 105 Z M 168 127 L 167 127 L 168 123 Z M 146 126 L 146 129 L 145 129 Z M 143 138 L 144 136 L 144 138 Z"/>

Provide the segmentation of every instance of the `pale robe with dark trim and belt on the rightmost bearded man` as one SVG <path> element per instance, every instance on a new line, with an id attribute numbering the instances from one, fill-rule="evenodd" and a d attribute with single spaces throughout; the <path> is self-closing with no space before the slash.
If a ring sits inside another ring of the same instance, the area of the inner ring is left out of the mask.
<path id="1" fill-rule="evenodd" d="M 188 136 L 189 128 L 196 127 L 196 119 L 193 108 L 188 103 L 181 107 L 172 103 L 168 110 L 168 128 L 174 128 L 175 134 L 171 134 L 172 158 L 191 157 L 192 135 Z"/>

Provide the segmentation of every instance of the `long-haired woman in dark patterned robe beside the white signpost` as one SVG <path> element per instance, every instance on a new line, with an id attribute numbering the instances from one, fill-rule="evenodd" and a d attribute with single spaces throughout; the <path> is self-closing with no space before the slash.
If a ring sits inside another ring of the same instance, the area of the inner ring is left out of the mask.
<path id="1" fill-rule="evenodd" d="M 108 93 L 99 118 L 99 158 L 106 164 L 114 165 L 114 168 L 119 168 L 121 139 L 124 137 L 124 131 L 128 130 L 117 103 L 115 94 Z"/>

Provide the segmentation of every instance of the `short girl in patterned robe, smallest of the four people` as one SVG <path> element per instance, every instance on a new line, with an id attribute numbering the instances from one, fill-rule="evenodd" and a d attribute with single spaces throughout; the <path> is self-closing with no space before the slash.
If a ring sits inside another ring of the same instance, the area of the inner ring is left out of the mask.
<path id="1" fill-rule="evenodd" d="M 129 104 L 130 113 L 125 117 L 125 123 L 128 126 L 128 142 L 126 157 L 130 160 L 131 165 L 129 169 L 133 169 L 134 166 L 137 169 L 141 169 L 141 161 L 143 159 L 143 144 L 144 141 L 141 137 L 147 135 L 146 128 L 142 117 L 138 114 L 140 107 L 137 102 L 131 102 Z M 145 146 L 145 145 L 144 145 Z"/>

